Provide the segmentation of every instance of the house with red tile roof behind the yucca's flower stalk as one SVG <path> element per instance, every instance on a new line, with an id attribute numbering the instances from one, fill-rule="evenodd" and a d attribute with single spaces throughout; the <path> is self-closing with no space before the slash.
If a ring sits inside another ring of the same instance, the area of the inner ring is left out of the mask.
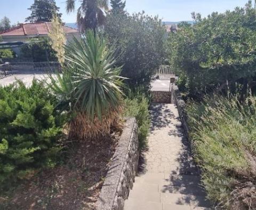
<path id="1" fill-rule="evenodd" d="M 51 28 L 51 22 L 25 23 L 9 30 L 2 31 L 0 36 L 2 36 L 4 42 L 26 42 L 28 38 L 48 37 Z M 67 42 L 70 42 L 73 36 L 76 38 L 81 37 L 81 33 L 75 28 L 63 26 L 63 30 Z"/>

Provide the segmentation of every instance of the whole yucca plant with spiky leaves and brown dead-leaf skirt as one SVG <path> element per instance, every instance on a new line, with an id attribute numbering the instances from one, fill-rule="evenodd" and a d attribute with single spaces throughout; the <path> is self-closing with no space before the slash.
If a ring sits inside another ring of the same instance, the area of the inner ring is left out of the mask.
<path id="1" fill-rule="evenodd" d="M 51 76 L 59 104 L 70 105 L 75 117 L 70 122 L 73 138 L 106 135 L 121 110 L 122 67 L 115 67 L 116 53 L 105 39 L 88 30 L 80 40 L 66 46 L 63 74 Z"/>

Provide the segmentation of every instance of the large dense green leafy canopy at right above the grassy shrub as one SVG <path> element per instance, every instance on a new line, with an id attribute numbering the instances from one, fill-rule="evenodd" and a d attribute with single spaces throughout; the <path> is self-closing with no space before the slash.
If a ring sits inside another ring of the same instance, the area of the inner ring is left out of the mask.
<path id="1" fill-rule="evenodd" d="M 195 24 L 183 24 L 168 41 L 169 60 L 191 96 L 241 83 L 253 87 L 256 74 L 256 10 L 214 12 L 207 18 L 193 13 Z"/>

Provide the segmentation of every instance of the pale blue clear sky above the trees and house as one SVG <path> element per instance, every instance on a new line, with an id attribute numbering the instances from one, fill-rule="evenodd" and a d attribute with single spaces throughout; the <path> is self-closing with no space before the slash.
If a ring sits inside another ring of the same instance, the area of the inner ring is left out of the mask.
<path id="1" fill-rule="evenodd" d="M 76 22 L 76 13 L 66 13 L 65 0 L 55 0 L 60 7 L 64 22 Z M 0 0 L 0 19 L 10 18 L 12 23 L 25 22 L 30 11 L 27 10 L 34 0 Z M 236 6 L 244 6 L 248 0 L 126 0 L 129 13 L 144 10 L 149 15 L 157 15 L 163 21 L 191 20 L 191 12 L 199 12 L 206 17 L 212 12 L 233 10 Z M 79 0 L 77 0 L 77 5 Z"/>

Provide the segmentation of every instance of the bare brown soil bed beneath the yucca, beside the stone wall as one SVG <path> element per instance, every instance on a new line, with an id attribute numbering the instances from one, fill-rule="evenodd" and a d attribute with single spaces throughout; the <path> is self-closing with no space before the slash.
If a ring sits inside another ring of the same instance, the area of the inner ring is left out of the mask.
<path id="1" fill-rule="evenodd" d="M 0 193 L 0 209 L 94 209 L 120 134 L 71 143 L 65 163 Z"/>

